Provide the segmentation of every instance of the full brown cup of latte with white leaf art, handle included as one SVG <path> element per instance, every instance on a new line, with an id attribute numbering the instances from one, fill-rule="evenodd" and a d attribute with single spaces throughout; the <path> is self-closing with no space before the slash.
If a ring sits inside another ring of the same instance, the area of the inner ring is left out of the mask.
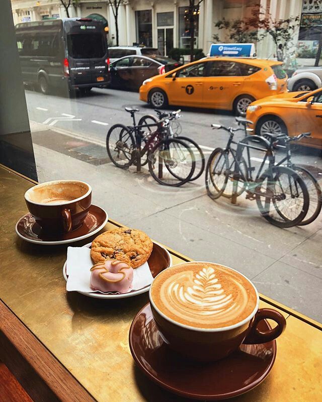
<path id="1" fill-rule="evenodd" d="M 152 281 L 149 299 L 164 341 L 198 361 L 222 359 L 242 343 L 270 342 L 286 326 L 276 310 L 259 309 L 258 291 L 246 276 L 212 262 L 185 262 L 160 272 Z M 264 319 L 277 326 L 258 330 Z"/>

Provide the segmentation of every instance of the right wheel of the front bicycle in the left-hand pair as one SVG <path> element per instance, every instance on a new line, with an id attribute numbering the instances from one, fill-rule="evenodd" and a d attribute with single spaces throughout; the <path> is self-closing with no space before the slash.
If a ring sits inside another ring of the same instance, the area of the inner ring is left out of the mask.
<path id="1" fill-rule="evenodd" d="M 178 187 L 189 181 L 195 170 L 191 149 L 183 141 L 164 139 L 148 154 L 148 167 L 154 180 L 160 184 Z"/>

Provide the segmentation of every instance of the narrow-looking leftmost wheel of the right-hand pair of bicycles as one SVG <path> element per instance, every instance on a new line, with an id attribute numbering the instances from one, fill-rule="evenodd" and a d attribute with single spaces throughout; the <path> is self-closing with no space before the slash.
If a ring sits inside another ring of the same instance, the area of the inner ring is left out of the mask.
<path id="1" fill-rule="evenodd" d="M 210 198 L 216 199 L 225 190 L 229 177 L 229 164 L 222 148 L 216 148 L 209 156 L 206 166 L 206 189 Z"/>

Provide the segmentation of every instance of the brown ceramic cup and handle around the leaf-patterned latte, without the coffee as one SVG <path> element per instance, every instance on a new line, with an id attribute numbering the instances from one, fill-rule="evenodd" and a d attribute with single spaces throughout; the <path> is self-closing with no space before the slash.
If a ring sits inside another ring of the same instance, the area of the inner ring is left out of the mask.
<path id="1" fill-rule="evenodd" d="M 187 264 L 189 264 L 189 262 Z M 171 268 L 172 267 L 168 269 Z M 237 273 L 244 276 L 240 272 Z M 162 275 L 162 272 L 156 277 L 159 275 Z M 154 278 L 149 291 L 150 307 L 154 321 L 164 341 L 171 349 L 186 358 L 198 361 L 215 361 L 228 356 L 238 349 L 242 343 L 259 344 L 270 342 L 277 338 L 286 327 L 285 318 L 276 310 L 259 309 L 258 291 L 254 284 L 249 279 L 247 280 L 255 289 L 257 295 L 256 306 L 252 313 L 237 324 L 222 328 L 206 329 L 190 327 L 176 322 L 160 311 L 151 296 L 153 282 L 155 281 Z M 277 326 L 266 332 L 260 331 L 257 329 L 257 325 L 264 319 L 274 320 Z"/>

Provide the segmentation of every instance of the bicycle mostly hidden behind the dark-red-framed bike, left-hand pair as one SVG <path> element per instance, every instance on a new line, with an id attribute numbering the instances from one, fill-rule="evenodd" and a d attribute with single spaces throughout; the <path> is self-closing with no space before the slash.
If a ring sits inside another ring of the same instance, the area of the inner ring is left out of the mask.
<path id="1" fill-rule="evenodd" d="M 195 141 L 193 141 L 191 138 L 179 135 L 182 131 L 181 125 L 178 122 L 178 119 L 181 117 L 180 116 L 181 110 L 179 109 L 177 111 L 170 112 L 170 113 L 162 112 L 158 109 L 154 109 L 154 111 L 157 113 L 158 119 L 169 119 L 170 120 L 170 125 L 168 127 L 167 135 L 169 137 L 177 138 L 179 140 L 184 141 L 192 149 L 194 156 L 195 156 L 196 167 L 195 167 L 195 172 L 194 172 L 192 178 L 190 179 L 190 181 L 198 179 L 202 175 L 203 171 L 205 170 L 206 160 L 205 160 L 204 153 L 202 152 L 200 146 Z M 147 130 L 151 131 L 151 125 L 153 126 L 153 123 L 155 125 L 159 121 L 158 119 L 153 115 L 145 115 L 145 116 L 141 117 L 138 124 L 139 125 L 147 125 L 148 126 Z"/>

